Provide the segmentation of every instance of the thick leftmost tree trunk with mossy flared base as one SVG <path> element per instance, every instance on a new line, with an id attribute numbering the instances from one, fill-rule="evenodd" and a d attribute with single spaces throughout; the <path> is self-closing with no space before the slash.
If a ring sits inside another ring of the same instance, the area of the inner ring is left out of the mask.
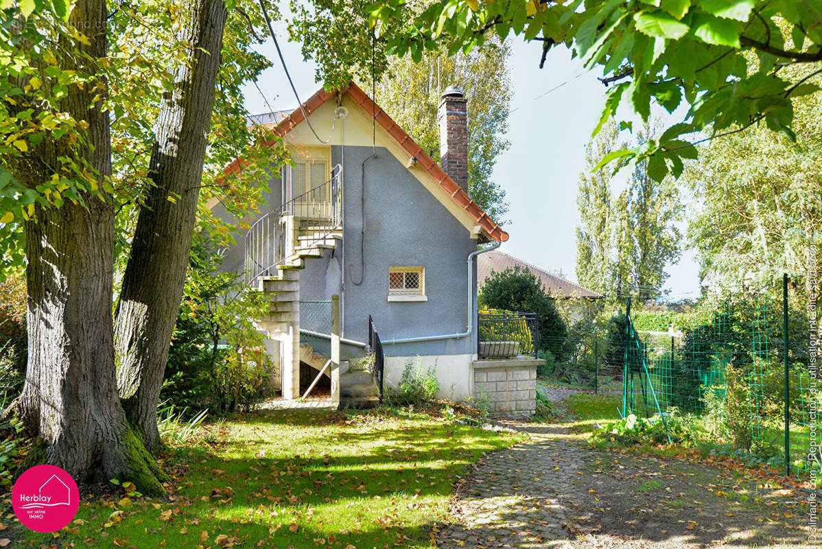
<path id="1" fill-rule="evenodd" d="M 70 23 L 83 30 L 92 58 L 106 53 L 103 0 L 79 0 Z M 71 52 L 70 44 L 62 51 Z M 83 63 L 85 66 L 77 66 Z M 84 58 L 67 54 L 65 69 L 95 72 Z M 81 155 L 98 182 L 111 176 L 109 113 L 100 110 L 99 89 L 70 85 L 62 108 L 88 122 L 93 146 L 70 150 L 67 140 L 45 141 L 34 155 L 20 159 L 21 181 L 35 185 L 46 171 L 25 166 L 59 165 L 59 155 Z M 163 473 L 129 426 L 118 399 L 114 375 L 112 275 L 114 212 L 109 201 L 85 195 L 85 206 L 66 201 L 62 208 L 35 209 L 25 223 L 28 265 L 28 345 L 26 379 L 15 411 L 39 439 L 35 459 L 58 465 L 80 482 L 132 479 L 146 494 L 164 492 Z"/>

